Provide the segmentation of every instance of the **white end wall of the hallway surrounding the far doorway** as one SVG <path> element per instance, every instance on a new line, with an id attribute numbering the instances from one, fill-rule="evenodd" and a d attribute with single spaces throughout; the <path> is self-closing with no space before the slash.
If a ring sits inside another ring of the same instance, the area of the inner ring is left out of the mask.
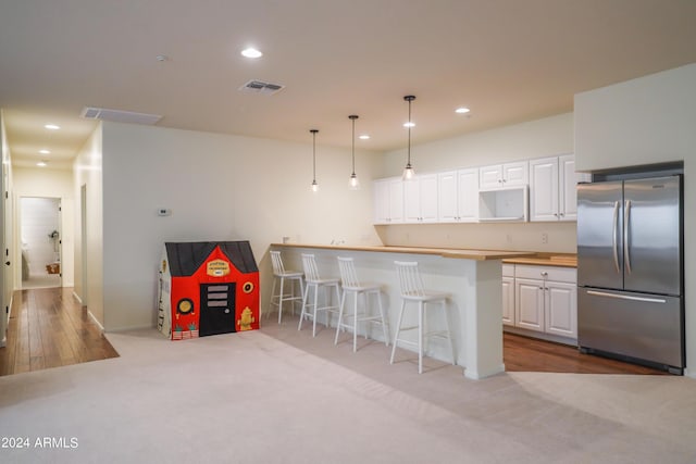
<path id="1" fill-rule="evenodd" d="M 63 274 L 63 286 L 73 287 L 75 285 L 75 197 L 73 192 L 73 173 L 64 170 L 15 167 L 13 170 L 13 176 L 14 198 L 17 202 L 23 197 L 49 197 L 60 199 L 62 208 L 61 240 L 63 242 L 61 273 Z M 22 214 L 22 211 L 18 208 L 15 209 L 15 211 L 17 214 L 13 218 L 16 230 L 14 249 L 18 256 L 22 247 L 22 237 L 20 234 L 20 214 Z M 22 268 L 17 265 L 14 266 L 14 289 L 21 288 L 21 281 Z"/>

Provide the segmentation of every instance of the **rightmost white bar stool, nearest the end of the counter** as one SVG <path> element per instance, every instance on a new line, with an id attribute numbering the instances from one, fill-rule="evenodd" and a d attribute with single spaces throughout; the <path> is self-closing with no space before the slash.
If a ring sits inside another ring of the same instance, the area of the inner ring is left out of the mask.
<path id="1" fill-rule="evenodd" d="M 425 290 L 423 288 L 423 280 L 421 274 L 418 271 L 417 262 L 402 262 L 395 261 L 397 273 L 399 275 L 399 284 L 401 287 L 401 310 L 399 311 L 399 322 L 397 323 L 396 334 L 394 335 L 394 344 L 391 347 L 391 358 L 389 364 L 394 364 L 394 353 L 396 352 L 397 342 L 410 343 L 418 346 L 418 373 L 423 373 L 423 340 L 427 337 L 444 338 L 449 341 L 449 348 L 452 352 L 452 364 L 457 364 L 455 359 L 455 346 L 452 344 L 452 338 L 449 333 L 449 322 L 447 317 L 447 299 L 449 293 L 437 292 L 432 290 Z M 418 303 L 418 325 L 410 327 L 401 327 L 401 321 L 403 319 L 403 310 L 406 303 Z M 443 312 L 445 313 L 445 330 L 437 330 L 425 333 L 425 304 L 426 303 L 440 303 Z M 399 338 L 399 334 L 403 330 L 418 329 L 418 342 L 411 340 L 405 340 Z"/>

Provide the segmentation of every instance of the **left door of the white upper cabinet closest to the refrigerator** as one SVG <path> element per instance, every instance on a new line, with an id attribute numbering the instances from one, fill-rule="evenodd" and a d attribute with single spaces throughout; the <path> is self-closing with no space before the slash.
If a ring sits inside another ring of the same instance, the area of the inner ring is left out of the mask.
<path id="1" fill-rule="evenodd" d="M 531 221 L 558 221 L 558 158 L 530 161 Z"/>

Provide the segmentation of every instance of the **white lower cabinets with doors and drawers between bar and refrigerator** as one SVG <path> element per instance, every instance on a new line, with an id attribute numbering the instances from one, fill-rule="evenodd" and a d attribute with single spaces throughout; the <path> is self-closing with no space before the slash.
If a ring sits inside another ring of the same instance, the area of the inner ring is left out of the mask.
<path id="1" fill-rule="evenodd" d="M 509 274 L 509 271 L 508 271 Z M 514 296 L 510 277 L 502 277 L 504 324 L 563 338 L 577 338 L 577 272 L 572 267 L 514 265 Z M 510 315 L 510 298 L 514 316 Z"/>

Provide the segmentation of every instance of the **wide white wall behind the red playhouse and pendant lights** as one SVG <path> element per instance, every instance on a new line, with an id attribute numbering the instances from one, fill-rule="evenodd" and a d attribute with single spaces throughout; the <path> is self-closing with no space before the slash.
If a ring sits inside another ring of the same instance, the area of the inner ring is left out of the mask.
<path id="1" fill-rule="evenodd" d="M 363 189 L 350 191 L 350 150 L 323 147 L 318 137 L 321 189 L 312 193 L 307 135 L 307 143 L 289 143 L 104 123 L 105 329 L 154 324 L 165 241 L 248 239 L 262 271 L 269 266 L 269 244 L 283 236 L 307 243 L 378 244 L 371 225 L 371 173 L 380 156 L 356 152 Z M 172 215 L 158 216 L 160 208 Z M 262 281 L 266 292 L 269 287 Z"/>

